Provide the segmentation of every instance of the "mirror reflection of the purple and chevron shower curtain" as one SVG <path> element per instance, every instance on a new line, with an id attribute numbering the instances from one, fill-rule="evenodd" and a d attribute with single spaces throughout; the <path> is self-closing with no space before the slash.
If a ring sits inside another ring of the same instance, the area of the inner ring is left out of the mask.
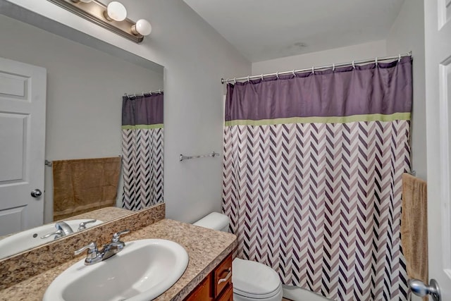
<path id="1" fill-rule="evenodd" d="M 163 202 L 163 93 L 123 97 L 123 205 L 140 210 Z"/>

